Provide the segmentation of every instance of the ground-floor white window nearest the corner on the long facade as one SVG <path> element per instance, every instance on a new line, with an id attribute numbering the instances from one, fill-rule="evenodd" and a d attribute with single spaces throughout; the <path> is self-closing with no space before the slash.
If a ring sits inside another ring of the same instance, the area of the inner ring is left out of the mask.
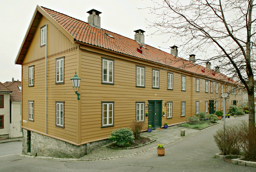
<path id="1" fill-rule="evenodd" d="M 114 102 L 102 103 L 102 127 L 114 125 Z"/>

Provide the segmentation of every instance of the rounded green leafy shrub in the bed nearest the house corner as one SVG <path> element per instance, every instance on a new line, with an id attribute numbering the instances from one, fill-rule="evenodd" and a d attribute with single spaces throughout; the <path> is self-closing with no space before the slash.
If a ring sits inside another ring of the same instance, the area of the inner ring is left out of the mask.
<path id="1" fill-rule="evenodd" d="M 109 139 L 116 141 L 119 146 L 124 146 L 127 143 L 134 143 L 134 135 L 130 128 L 120 128 L 110 133 Z"/>

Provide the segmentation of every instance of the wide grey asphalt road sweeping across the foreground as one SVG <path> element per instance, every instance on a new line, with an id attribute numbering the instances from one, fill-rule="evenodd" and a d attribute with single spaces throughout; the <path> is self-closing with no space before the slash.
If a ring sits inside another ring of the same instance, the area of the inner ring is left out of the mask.
<path id="1" fill-rule="evenodd" d="M 232 122 L 248 120 L 247 116 Z M 243 167 L 215 159 L 220 152 L 213 141 L 212 134 L 222 125 L 214 126 L 191 137 L 184 138 L 165 147 L 165 156 L 158 157 L 157 151 L 142 155 L 99 162 L 60 162 L 20 156 L 0 157 L 0 171 L 4 172 L 255 172 L 256 168 Z"/>

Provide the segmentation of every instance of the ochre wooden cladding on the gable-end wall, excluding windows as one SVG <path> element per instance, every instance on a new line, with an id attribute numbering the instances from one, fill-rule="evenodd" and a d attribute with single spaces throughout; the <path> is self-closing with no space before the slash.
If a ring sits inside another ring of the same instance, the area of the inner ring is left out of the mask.
<path id="1" fill-rule="evenodd" d="M 23 126 L 45 133 L 45 46 L 40 47 L 40 27 L 48 27 L 47 133 L 70 141 L 77 135 L 77 99 L 70 78 L 78 69 L 78 45 L 70 42 L 42 17 L 22 65 Z M 64 84 L 56 85 L 56 59 L 64 57 Z M 34 65 L 34 86 L 28 87 L 28 67 Z M 34 101 L 34 122 L 28 121 L 28 100 Z M 64 127 L 56 127 L 56 101 L 64 103 Z"/>

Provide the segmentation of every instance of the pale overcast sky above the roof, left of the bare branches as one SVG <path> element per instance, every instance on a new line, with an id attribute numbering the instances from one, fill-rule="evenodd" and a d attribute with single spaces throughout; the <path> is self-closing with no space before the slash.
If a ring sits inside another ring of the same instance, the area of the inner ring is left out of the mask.
<path id="1" fill-rule="evenodd" d="M 149 28 L 146 19 L 153 21 L 156 16 L 149 14 L 149 9 L 138 9 L 153 6 L 151 0 L 0 0 L 1 2 L 1 52 L 0 82 L 21 80 L 21 65 L 15 65 L 15 58 L 21 47 L 36 6 L 69 15 L 86 21 L 90 9 L 102 14 L 101 27 L 111 32 L 134 39 L 134 30 L 142 29 L 145 33 L 145 44 L 170 53 L 174 40 L 167 35 L 151 36 L 155 28 Z M 168 42 L 167 42 L 168 41 Z M 180 55 L 186 57 L 187 55 Z"/>

